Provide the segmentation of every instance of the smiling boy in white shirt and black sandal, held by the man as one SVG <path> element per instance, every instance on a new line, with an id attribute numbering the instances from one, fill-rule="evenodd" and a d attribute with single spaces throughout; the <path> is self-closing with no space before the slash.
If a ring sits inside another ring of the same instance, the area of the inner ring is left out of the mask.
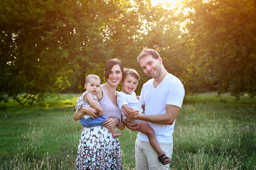
<path id="1" fill-rule="evenodd" d="M 138 82 L 140 80 L 140 75 L 138 72 L 134 69 L 124 69 L 123 78 L 122 78 L 122 86 L 123 89 L 121 92 L 117 94 L 117 104 L 122 112 L 122 121 L 125 121 L 126 117 L 124 116 L 124 112 L 122 110 L 122 107 L 125 109 L 127 113 L 131 112 L 139 112 L 141 114 L 144 114 L 144 111 L 141 107 L 141 104 L 139 103 L 139 100 L 136 98 L 136 94 L 134 90 L 136 90 Z M 135 111 L 132 111 L 128 108 L 132 107 L 135 109 Z M 157 152 L 159 161 L 163 157 L 164 152 L 161 150 L 157 140 L 156 140 L 156 134 L 155 131 L 149 126 L 147 121 L 143 120 L 131 120 L 130 123 L 139 123 L 137 126 L 140 127 L 140 132 L 144 133 L 148 136 L 148 140 L 152 148 Z M 165 154 L 164 154 L 165 155 Z M 166 156 L 166 155 L 165 155 Z M 166 160 L 167 159 L 167 160 Z M 161 163 L 166 165 L 170 163 L 172 160 L 168 160 L 167 156 L 164 158 L 164 160 L 161 160 Z"/>

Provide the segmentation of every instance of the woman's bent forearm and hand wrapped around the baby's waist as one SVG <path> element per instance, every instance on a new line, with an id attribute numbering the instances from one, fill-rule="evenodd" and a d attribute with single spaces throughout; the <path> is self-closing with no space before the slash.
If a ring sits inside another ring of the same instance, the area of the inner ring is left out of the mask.
<path id="1" fill-rule="evenodd" d="M 94 117 L 98 117 L 98 113 L 99 111 L 97 109 L 94 109 L 93 107 L 91 106 L 83 106 L 81 109 L 77 110 L 74 115 L 73 115 L 73 119 L 74 120 L 80 120 L 84 114 L 88 114 L 92 117 L 92 119 L 95 120 Z"/>

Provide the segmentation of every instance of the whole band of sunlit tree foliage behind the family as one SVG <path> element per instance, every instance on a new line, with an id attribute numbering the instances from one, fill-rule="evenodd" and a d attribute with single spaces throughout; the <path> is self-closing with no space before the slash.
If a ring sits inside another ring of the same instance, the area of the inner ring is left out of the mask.
<path id="1" fill-rule="evenodd" d="M 255 96 L 252 0 L 184 0 L 173 10 L 150 0 L 0 2 L 0 101 L 32 104 L 83 91 L 88 74 L 104 82 L 111 58 L 140 73 L 139 95 L 149 79 L 136 61 L 144 47 L 159 52 L 186 94 L 213 86 L 237 99 L 243 92 Z"/>

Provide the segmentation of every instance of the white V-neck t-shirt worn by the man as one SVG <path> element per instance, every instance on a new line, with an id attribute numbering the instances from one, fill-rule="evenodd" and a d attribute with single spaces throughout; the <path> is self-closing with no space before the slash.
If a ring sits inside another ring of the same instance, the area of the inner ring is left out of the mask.
<path id="1" fill-rule="evenodd" d="M 156 87 L 153 86 L 154 79 L 143 84 L 140 93 L 140 103 L 145 105 L 146 115 L 157 115 L 166 113 L 166 104 L 181 108 L 185 90 L 181 81 L 172 74 L 167 74 L 163 81 Z M 156 132 L 158 143 L 171 143 L 175 120 L 172 125 L 161 125 L 148 122 Z M 141 141 L 149 142 L 147 135 L 139 132 Z"/>

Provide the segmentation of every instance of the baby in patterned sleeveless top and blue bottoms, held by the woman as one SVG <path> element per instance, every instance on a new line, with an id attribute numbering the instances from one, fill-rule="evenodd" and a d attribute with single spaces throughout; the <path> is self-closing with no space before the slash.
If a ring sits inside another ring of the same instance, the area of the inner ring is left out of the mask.
<path id="1" fill-rule="evenodd" d="M 106 121 L 106 116 L 103 115 L 103 110 L 100 107 L 98 102 L 97 96 L 95 95 L 100 91 L 100 77 L 94 74 L 90 74 L 85 79 L 84 87 L 86 91 L 77 99 L 76 101 L 76 110 L 79 110 L 82 106 L 92 106 L 94 109 L 99 111 L 99 117 L 92 119 L 91 116 L 85 114 L 81 119 L 80 122 L 84 127 L 91 128 L 94 126 L 102 126 L 102 123 Z M 121 136 L 121 133 L 116 132 L 115 128 L 108 128 L 112 135 Z"/>

